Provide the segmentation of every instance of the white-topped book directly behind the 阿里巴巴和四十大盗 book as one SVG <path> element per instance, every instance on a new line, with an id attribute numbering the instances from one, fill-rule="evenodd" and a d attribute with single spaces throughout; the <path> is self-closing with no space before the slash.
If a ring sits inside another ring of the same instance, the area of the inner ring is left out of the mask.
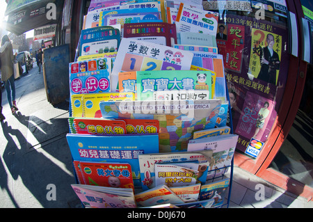
<path id="1" fill-rule="evenodd" d="M 138 157 L 141 170 L 141 182 L 143 190 L 152 189 L 156 186 L 155 164 L 171 164 L 178 161 L 198 161 L 197 179 L 204 184 L 207 180 L 209 162 L 211 161 L 211 150 L 199 152 L 177 152 L 177 153 L 160 153 L 160 154 L 141 154 Z"/>

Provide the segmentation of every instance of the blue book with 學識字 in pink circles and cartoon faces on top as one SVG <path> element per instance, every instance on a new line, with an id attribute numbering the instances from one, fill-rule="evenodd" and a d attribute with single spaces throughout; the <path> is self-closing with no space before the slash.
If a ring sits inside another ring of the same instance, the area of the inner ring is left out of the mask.
<path id="1" fill-rule="evenodd" d="M 70 63 L 70 95 L 109 92 L 111 58 Z"/>

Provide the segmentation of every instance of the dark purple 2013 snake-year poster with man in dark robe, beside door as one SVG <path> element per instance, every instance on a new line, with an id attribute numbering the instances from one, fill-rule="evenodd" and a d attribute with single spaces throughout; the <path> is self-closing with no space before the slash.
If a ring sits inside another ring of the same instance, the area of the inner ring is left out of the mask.
<path id="1" fill-rule="evenodd" d="M 245 152 L 252 138 L 267 141 L 277 117 L 289 69 L 287 26 L 227 15 L 219 27 L 216 42 L 225 58 L 232 125 L 239 135 L 236 150 Z"/>

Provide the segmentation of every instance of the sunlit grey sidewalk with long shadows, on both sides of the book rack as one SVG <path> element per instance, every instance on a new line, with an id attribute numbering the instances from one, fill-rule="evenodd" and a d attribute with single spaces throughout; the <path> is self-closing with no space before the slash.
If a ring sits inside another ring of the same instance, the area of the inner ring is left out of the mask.
<path id="1" fill-rule="evenodd" d="M 14 116 L 2 89 L 6 120 L 0 129 L 0 208 L 81 208 L 70 187 L 76 181 L 65 138 L 69 103 L 47 102 L 43 76 L 35 63 L 29 74 L 15 81 L 15 87 L 19 111 Z M 264 184 L 264 198 L 256 198 L 257 184 Z M 51 200 L 54 186 L 56 199 Z M 313 203 L 235 166 L 229 207 L 313 208 Z"/>

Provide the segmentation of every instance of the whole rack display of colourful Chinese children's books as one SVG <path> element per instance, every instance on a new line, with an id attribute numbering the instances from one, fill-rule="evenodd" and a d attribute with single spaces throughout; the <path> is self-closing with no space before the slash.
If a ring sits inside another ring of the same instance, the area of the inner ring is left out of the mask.
<path id="1" fill-rule="evenodd" d="M 238 136 L 226 126 L 217 23 L 199 0 L 90 2 L 69 64 L 83 205 L 223 205 Z"/>

